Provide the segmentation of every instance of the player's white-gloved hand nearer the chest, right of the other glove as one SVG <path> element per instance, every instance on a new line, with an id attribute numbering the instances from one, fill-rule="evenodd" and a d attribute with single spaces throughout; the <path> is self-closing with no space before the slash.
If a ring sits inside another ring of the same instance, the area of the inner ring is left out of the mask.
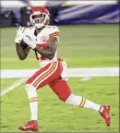
<path id="1" fill-rule="evenodd" d="M 36 47 L 36 43 L 35 39 L 33 38 L 33 36 L 31 34 L 26 34 L 23 36 L 23 40 L 32 48 L 35 49 Z"/>

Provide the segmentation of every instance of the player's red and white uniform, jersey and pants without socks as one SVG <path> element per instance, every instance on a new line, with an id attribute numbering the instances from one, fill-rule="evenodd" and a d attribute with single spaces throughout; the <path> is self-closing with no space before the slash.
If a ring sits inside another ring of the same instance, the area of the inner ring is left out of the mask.
<path id="1" fill-rule="evenodd" d="M 59 29 L 57 26 L 46 26 L 37 36 L 34 35 L 34 27 L 29 28 L 27 32 L 33 34 L 33 39 L 41 49 L 46 47 L 46 41 L 50 37 L 57 37 L 59 40 Z M 68 78 L 65 74 L 67 63 L 57 58 L 57 51 L 51 60 L 39 53 L 37 53 L 37 58 L 40 69 L 27 80 L 26 84 L 33 85 L 36 89 L 49 85 L 60 99 L 65 100 L 71 94 L 65 82 Z"/>

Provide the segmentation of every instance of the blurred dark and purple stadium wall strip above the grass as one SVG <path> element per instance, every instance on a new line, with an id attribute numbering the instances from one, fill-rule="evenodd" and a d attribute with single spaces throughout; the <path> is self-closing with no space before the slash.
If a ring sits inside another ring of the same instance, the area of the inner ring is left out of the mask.
<path id="1" fill-rule="evenodd" d="M 51 24 L 103 24 L 119 22 L 119 3 L 116 0 L 84 1 L 1 1 L 1 26 L 28 26 L 31 5 L 47 7 Z"/>

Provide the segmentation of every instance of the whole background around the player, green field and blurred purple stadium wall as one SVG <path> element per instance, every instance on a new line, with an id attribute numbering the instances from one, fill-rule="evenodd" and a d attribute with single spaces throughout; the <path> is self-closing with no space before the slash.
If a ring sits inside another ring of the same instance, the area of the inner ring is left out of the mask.
<path id="1" fill-rule="evenodd" d="M 98 104 L 111 105 L 111 126 L 106 128 L 96 112 L 62 104 L 46 86 L 38 90 L 40 131 L 119 132 L 117 0 L 1 0 L 1 132 L 17 132 L 17 126 L 29 119 L 24 85 L 29 72 L 38 69 L 38 62 L 32 51 L 25 61 L 17 59 L 14 37 L 20 25 L 31 25 L 28 15 L 33 5 L 46 7 L 51 14 L 50 24 L 60 29 L 58 55 L 68 62 L 73 92 Z M 77 69 L 77 75 L 72 69 Z"/>

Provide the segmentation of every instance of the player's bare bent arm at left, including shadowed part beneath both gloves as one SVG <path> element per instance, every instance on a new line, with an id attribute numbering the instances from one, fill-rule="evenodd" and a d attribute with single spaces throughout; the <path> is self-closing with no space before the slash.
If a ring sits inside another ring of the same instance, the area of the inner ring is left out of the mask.
<path id="1" fill-rule="evenodd" d="M 25 60 L 31 48 L 23 40 L 21 43 L 15 43 L 15 47 L 19 59 Z"/>

